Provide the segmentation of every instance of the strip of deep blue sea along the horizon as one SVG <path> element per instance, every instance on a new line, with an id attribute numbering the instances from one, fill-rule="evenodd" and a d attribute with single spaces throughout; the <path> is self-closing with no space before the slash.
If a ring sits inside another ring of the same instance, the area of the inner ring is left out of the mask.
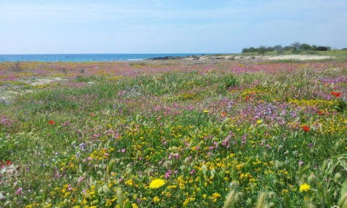
<path id="1" fill-rule="evenodd" d="M 15 54 L 1 55 L 4 61 L 87 62 L 87 61 L 141 61 L 156 57 L 188 57 L 202 54 Z"/>

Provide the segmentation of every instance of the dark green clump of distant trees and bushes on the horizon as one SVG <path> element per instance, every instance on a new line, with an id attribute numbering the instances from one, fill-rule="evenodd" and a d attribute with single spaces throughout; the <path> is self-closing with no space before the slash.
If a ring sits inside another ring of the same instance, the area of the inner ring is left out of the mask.
<path id="1" fill-rule="evenodd" d="M 290 45 L 287 45 L 283 47 L 282 45 L 274 45 L 271 46 L 264 46 L 261 45 L 259 47 L 245 47 L 243 48 L 242 52 L 258 52 L 259 54 L 265 54 L 265 52 L 277 52 L 278 54 L 281 54 L 285 51 L 291 51 L 294 54 L 300 53 L 301 51 L 328 51 L 331 50 L 332 47 L 329 46 L 317 46 L 317 45 L 309 45 L 307 43 L 299 43 L 294 42 Z"/>

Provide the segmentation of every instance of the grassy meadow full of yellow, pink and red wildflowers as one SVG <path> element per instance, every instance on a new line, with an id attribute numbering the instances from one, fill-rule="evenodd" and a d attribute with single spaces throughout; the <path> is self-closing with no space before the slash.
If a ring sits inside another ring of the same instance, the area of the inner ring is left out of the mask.
<path id="1" fill-rule="evenodd" d="M 347 207 L 347 61 L 0 63 L 0 207 Z"/>

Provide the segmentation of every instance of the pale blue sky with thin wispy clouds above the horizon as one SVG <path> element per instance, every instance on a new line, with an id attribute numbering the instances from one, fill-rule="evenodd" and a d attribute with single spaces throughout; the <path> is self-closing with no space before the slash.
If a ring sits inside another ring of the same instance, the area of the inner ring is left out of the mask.
<path id="1" fill-rule="evenodd" d="M 346 0 L 0 0 L 0 54 L 347 47 Z"/>

